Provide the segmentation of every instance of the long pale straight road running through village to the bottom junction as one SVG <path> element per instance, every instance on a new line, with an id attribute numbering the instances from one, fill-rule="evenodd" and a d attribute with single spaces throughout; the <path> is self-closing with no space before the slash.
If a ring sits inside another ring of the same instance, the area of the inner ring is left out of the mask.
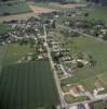
<path id="1" fill-rule="evenodd" d="M 66 101 L 65 101 L 64 96 L 63 96 L 59 80 L 58 80 L 57 73 L 54 69 L 54 62 L 53 62 L 52 57 L 51 57 L 51 50 L 50 50 L 48 41 L 46 41 L 45 25 L 43 25 L 43 28 L 44 28 L 44 40 L 45 40 L 45 46 L 46 46 L 46 50 L 48 50 L 48 57 L 49 57 L 49 60 L 50 60 L 50 63 L 51 63 L 51 66 L 52 66 L 52 70 L 53 70 L 53 75 L 54 75 L 54 78 L 55 78 L 55 82 L 56 82 L 56 86 L 57 86 L 57 90 L 58 90 L 58 94 L 59 94 L 59 99 L 61 99 L 61 104 L 62 104 L 62 108 L 63 108 L 63 107 L 66 107 L 67 105 L 66 105 Z"/>

